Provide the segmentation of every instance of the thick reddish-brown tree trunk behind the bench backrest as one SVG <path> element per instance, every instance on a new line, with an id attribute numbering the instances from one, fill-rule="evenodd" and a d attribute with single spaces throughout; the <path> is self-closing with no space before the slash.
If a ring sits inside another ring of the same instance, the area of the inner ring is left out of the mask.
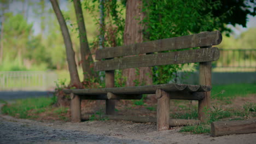
<path id="1" fill-rule="evenodd" d="M 143 41 L 143 25 L 141 22 L 144 19 L 142 13 L 142 1 L 127 0 L 126 2 L 126 19 L 124 32 L 124 45 L 141 43 Z M 124 69 L 123 76 L 127 77 L 126 86 L 135 86 L 135 80 L 138 79 L 138 84 L 152 85 L 152 70 L 150 67 L 142 67 L 137 71 L 136 69 Z"/>

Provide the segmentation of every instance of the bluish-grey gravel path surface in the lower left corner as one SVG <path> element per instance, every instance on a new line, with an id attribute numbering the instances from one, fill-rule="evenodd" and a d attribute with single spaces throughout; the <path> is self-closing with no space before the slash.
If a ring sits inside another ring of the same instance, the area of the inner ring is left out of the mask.
<path id="1" fill-rule="evenodd" d="M 0 143 L 149 143 L 33 124 L 0 117 Z"/>

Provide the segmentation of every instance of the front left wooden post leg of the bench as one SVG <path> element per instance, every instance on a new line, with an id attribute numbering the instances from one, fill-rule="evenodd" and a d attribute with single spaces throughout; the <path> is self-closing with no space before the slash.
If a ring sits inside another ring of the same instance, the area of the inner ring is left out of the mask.
<path id="1" fill-rule="evenodd" d="M 81 122 L 81 100 L 78 95 L 71 93 L 71 122 Z"/>

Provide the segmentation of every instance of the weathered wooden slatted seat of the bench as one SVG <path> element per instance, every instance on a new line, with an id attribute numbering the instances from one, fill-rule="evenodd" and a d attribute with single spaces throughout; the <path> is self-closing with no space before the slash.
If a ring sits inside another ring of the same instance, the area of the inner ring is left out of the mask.
<path id="1" fill-rule="evenodd" d="M 156 89 L 170 92 L 170 99 L 201 100 L 205 97 L 200 92 L 211 91 L 211 86 L 167 83 L 137 87 L 63 89 L 65 93 L 79 95 L 82 99 L 141 99 L 142 94 L 155 94 Z"/>

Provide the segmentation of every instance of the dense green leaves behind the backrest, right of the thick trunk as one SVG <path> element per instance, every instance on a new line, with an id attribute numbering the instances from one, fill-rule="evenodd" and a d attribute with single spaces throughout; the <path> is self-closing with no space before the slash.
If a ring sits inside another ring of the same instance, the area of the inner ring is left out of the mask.
<path id="1" fill-rule="evenodd" d="M 219 1 L 143 1 L 144 13 L 147 17 L 142 23 L 147 27 L 144 39 L 157 40 L 179 37 L 202 31 L 212 31 L 217 17 L 202 10 L 217 8 Z M 175 6 L 174 6 L 175 5 Z M 164 65 L 153 68 L 155 84 L 177 82 L 177 71 L 182 70 L 183 64 Z"/>

